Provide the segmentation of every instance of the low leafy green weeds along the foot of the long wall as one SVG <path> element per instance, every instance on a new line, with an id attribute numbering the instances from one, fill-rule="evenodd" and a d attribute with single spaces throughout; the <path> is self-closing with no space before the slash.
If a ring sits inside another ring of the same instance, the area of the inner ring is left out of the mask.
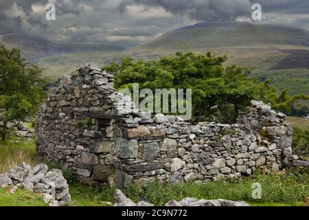
<path id="1" fill-rule="evenodd" d="M 229 199 L 233 201 L 247 201 L 249 203 L 295 203 L 309 196 L 308 170 L 290 170 L 286 175 L 264 175 L 256 172 L 250 178 L 220 180 L 207 184 L 161 184 L 159 181 L 149 183 L 146 188 L 137 185 L 126 190 L 126 196 L 138 201 L 143 196 L 156 206 L 175 199 L 179 201 L 185 197 L 196 199 Z M 262 186 L 262 199 L 252 198 L 251 186 L 259 182 Z M 295 187 L 297 186 L 297 187 Z M 133 190 L 134 189 L 134 190 Z"/>

